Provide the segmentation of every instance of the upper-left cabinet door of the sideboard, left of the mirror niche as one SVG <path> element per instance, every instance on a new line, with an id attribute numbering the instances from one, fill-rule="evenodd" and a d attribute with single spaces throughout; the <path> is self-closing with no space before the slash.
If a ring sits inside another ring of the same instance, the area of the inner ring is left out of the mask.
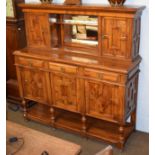
<path id="1" fill-rule="evenodd" d="M 48 14 L 25 13 L 25 23 L 29 47 L 48 48 L 51 46 Z"/>

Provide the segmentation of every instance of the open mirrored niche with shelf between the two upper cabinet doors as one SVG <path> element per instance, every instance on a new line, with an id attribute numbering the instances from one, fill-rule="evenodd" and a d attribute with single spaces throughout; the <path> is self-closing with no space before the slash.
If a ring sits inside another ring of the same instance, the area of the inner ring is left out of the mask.
<path id="1" fill-rule="evenodd" d="M 98 54 L 97 16 L 50 14 L 49 23 L 53 49 Z"/>

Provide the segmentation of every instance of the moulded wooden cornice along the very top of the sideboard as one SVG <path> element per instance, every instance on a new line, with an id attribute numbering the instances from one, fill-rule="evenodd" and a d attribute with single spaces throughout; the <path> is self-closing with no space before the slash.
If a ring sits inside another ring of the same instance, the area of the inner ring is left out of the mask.
<path id="1" fill-rule="evenodd" d="M 80 4 L 80 5 L 65 5 L 65 4 L 38 4 L 38 3 L 21 3 L 19 6 L 23 9 L 56 9 L 56 10 L 84 10 L 84 11 L 105 11 L 105 12 L 117 12 L 117 13 L 137 13 L 145 9 L 145 6 L 132 6 L 124 5 L 119 7 L 111 7 L 110 5 L 103 4 Z"/>

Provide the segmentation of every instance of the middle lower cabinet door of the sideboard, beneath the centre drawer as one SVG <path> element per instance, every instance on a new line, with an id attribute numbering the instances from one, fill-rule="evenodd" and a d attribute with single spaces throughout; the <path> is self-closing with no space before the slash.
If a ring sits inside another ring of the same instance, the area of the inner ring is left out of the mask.
<path id="1" fill-rule="evenodd" d="M 76 77 L 61 73 L 51 74 L 54 106 L 73 112 L 80 110 L 80 84 Z"/>

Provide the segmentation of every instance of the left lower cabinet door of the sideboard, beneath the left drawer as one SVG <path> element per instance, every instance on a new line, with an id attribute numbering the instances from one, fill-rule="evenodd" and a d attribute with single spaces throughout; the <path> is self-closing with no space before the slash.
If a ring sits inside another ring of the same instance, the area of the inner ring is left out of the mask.
<path id="1" fill-rule="evenodd" d="M 45 73 L 33 69 L 21 68 L 20 75 L 24 97 L 46 104 L 48 102 L 48 93 Z"/>

